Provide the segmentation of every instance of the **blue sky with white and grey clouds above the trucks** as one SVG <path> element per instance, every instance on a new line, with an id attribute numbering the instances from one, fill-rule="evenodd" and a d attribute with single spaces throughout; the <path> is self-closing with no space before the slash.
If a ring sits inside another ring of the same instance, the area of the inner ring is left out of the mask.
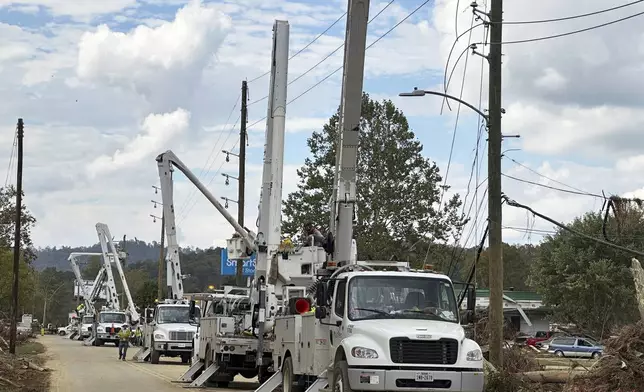
<path id="1" fill-rule="evenodd" d="M 485 12 L 486 1 L 478 1 Z M 481 118 L 437 97 L 398 94 L 414 87 L 443 91 L 452 75 L 450 94 L 487 107 L 486 29 L 470 3 L 372 0 L 364 81 L 372 98 L 391 99 L 405 113 L 424 156 L 437 162 L 451 187 L 446 196 L 467 195 L 471 223 L 460 242 L 469 246 L 479 242 L 487 214 Z M 503 192 L 557 221 L 599 211 L 602 192 L 644 194 L 644 30 L 638 28 L 644 16 L 534 39 L 636 15 L 644 3 L 559 22 L 517 22 L 625 3 L 504 5 Z M 168 149 L 213 194 L 236 200 L 236 181 L 226 185 L 222 174 L 237 175 L 237 158 L 227 161 L 222 150 L 238 151 L 242 80 L 249 83 L 245 220 L 255 222 L 273 23 L 290 24 L 286 198 L 309 155 L 307 138 L 339 105 L 341 72 L 332 73 L 343 61 L 346 8 L 346 0 L 0 0 L 0 180 L 16 182 L 10 158 L 23 118 L 25 203 L 37 219 L 35 245 L 95 243 L 97 222 L 117 237 L 158 240 L 160 221 L 151 217 L 161 216 L 152 202 L 161 201 L 153 188 L 155 157 Z M 531 41 L 516 42 L 522 40 Z M 471 44 L 476 53 L 467 50 Z M 223 245 L 233 232 L 181 174 L 175 211 L 182 246 Z M 228 211 L 237 215 L 234 202 Z M 508 205 L 503 226 L 510 243 L 538 243 L 553 230 Z"/>

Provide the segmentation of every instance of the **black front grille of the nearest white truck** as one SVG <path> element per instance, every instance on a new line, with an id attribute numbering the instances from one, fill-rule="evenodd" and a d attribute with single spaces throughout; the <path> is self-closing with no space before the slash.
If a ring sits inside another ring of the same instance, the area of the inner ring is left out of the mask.
<path id="1" fill-rule="evenodd" d="M 389 352 L 394 363 L 422 363 L 426 365 L 453 365 L 458 358 L 455 339 L 411 340 L 391 338 Z"/>

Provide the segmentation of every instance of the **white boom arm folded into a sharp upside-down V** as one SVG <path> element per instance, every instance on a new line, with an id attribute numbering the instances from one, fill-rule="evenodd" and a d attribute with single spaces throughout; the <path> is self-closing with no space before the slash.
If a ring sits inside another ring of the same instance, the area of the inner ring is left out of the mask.
<path id="1" fill-rule="evenodd" d="M 172 167 L 176 167 L 177 169 L 179 169 L 186 177 L 188 177 L 190 182 L 192 182 L 197 187 L 197 189 L 199 189 L 199 191 L 206 197 L 206 199 L 208 199 L 208 201 L 217 209 L 217 211 L 219 211 L 219 213 L 221 213 L 221 215 L 223 215 L 224 218 L 226 218 L 228 223 L 230 223 L 231 226 L 235 229 L 235 231 L 242 237 L 242 239 L 246 243 L 246 246 L 248 246 L 252 250 L 255 250 L 256 247 L 255 247 L 255 241 L 254 241 L 253 233 L 251 233 L 248 230 L 244 229 L 239 223 L 237 223 L 235 218 L 233 218 L 232 215 L 230 215 L 230 213 L 228 211 L 226 211 L 224 206 L 222 206 L 221 203 L 219 203 L 219 201 L 217 201 L 215 196 L 213 196 L 213 194 L 210 193 L 208 188 L 206 188 L 205 185 L 202 184 L 201 181 L 199 181 L 197 176 L 195 176 L 194 173 L 192 173 L 190 171 L 190 169 L 188 169 L 188 167 L 183 162 L 181 162 L 181 160 L 175 155 L 174 152 L 168 150 L 168 151 L 160 154 L 159 156 L 157 156 L 157 164 L 159 166 L 159 176 L 162 178 L 161 186 L 163 186 L 164 182 L 167 182 L 167 180 L 165 180 L 163 178 L 166 177 L 166 176 L 170 177 L 170 171 L 171 171 Z M 169 182 L 170 185 L 172 184 L 171 181 L 172 181 L 172 178 L 170 177 L 170 182 Z M 166 187 L 167 187 L 167 185 L 166 185 Z M 170 198 L 170 202 L 167 203 L 167 206 L 166 206 L 166 201 L 165 201 L 166 200 L 165 199 L 166 194 L 168 194 L 168 195 L 171 194 L 172 186 L 169 187 L 169 190 L 170 190 L 170 193 L 163 192 L 163 195 L 162 195 L 162 197 L 164 198 L 163 199 L 164 212 L 165 212 L 166 208 L 170 208 L 172 211 L 174 211 L 174 205 L 172 204 L 172 198 Z M 175 242 L 176 242 L 176 228 L 174 227 L 175 226 L 174 214 L 170 214 L 170 215 L 166 216 L 166 227 L 170 227 L 169 226 L 170 223 L 169 223 L 169 219 L 168 219 L 169 217 L 172 217 L 171 225 L 172 225 L 172 231 L 175 233 Z M 166 231 L 168 233 L 167 236 L 168 236 L 168 247 L 169 247 L 170 246 L 170 230 L 166 230 Z M 177 255 L 178 255 L 178 253 L 177 253 Z M 177 260 L 178 260 L 178 258 L 177 258 Z"/>

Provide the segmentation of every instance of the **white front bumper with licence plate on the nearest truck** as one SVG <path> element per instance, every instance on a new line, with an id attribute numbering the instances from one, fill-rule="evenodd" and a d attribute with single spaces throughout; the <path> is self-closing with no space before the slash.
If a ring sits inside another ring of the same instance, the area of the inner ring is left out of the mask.
<path id="1" fill-rule="evenodd" d="M 417 373 L 429 374 L 432 381 L 416 381 Z M 349 368 L 349 385 L 363 391 L 462 391 L 481 392 L 484 387 L 483 369 L 401 370 Z"/>

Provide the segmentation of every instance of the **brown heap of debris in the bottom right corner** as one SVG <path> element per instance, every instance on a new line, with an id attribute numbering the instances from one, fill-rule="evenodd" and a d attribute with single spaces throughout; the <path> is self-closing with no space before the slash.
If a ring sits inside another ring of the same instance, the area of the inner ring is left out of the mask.
<path id="1" fill-rule="evenodd" d="M 644 322 L 623 327 L 608 339 L 604 355 L 567 392 L 644 391 Z"/>

